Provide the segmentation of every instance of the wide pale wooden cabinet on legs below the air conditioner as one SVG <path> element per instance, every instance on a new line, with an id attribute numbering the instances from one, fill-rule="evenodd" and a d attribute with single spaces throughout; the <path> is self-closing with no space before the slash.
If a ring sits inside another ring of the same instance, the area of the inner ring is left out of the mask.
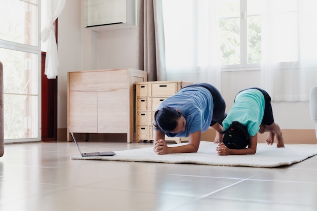
<path id="1" fill-rule="evenodd" d="M 67 125 L 73 133 L 126 133 L 127 142 L 133 142 L 135 82 L 146 81 L 146 71 L 68 72 L 67 80 Z"/>

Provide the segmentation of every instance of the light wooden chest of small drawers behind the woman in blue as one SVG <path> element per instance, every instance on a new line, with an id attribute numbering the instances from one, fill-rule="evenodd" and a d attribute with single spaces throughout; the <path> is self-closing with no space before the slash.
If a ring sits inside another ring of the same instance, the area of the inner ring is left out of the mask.
<path id="1" fill-rule="evenodd" d="M 162 101 L 191 84 L 188 81 L 136 82 L 136 142 L 153 141 L 153 117 Z M 170 138 L 167 141 L 181 143 L 188 138 Z"/>

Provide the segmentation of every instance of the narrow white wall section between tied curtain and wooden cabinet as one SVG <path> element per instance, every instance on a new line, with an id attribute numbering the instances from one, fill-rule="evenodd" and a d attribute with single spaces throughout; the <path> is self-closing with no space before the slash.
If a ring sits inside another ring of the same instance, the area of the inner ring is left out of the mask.
<path id="1" fill-rule="evenodd" d="M 81 70 L 81 4 L 67 0 L 58 17 L 57 128 L 66 128 L 67 72 Z"/>

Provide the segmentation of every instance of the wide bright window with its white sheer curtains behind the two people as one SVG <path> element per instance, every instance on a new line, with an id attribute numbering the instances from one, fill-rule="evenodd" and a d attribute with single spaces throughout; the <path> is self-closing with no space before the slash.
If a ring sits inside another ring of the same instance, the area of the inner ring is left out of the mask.
<path id="1" fill-rule="evenodd" d="M 317 81 L 316 8 L 315 0 L 163 0 L 167 79 L 219 89 L 221 71 L 259 70 L 273 101 L 307 101 Z"/>

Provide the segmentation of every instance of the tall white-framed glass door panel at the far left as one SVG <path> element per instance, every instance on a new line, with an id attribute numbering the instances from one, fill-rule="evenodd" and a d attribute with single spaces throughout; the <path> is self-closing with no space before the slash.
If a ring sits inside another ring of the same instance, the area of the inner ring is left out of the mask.
<path id="1" fill-rule="evenodd" d="M 0 1 L 5 142 L 40 140 L 41 49 L 38 0 Z"/>

